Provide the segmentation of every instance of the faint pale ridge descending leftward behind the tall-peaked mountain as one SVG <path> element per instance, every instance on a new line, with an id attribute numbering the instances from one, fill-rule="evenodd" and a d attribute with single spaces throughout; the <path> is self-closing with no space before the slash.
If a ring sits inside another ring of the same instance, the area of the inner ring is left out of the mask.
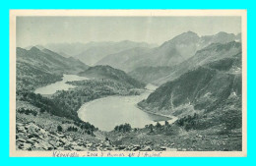
<path id="1" fill-rule="evenodd" d="M 115 54 L 136 47 L 152 48 L 154 46 L 154 44 L 148 44 L 146 42 L 133 42 L 129 40 L 124 40 L 120 42 L 107 42 L 104 44 L 91 46 L 84 52 L 74 57 L 81 60 L 82 62 L 86 62 L 88 65 L 96 65 L 96 62 L 100 61 L 102 58 L 110 54 Z M 97 63 L 97 65 L 104 64 Z"/>

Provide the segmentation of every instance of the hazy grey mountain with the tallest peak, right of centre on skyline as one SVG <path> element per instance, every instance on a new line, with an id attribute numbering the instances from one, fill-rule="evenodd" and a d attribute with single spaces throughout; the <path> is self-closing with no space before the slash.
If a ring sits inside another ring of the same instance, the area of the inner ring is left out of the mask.
<path id="1" fill-rule="evenodd" d="M 187 31 L 165 41 L 159 47 L 148 49 L 130 49 L 107 55 L 97 65 L 110 65 L 125 72 L 131 72 L 142 66 L 173 67 L 191 58 L 195 53 L 212 43 L 226 43 L 237 40 L 239 35 L 219 32 L 215 35 L 199 36 Z"/>

